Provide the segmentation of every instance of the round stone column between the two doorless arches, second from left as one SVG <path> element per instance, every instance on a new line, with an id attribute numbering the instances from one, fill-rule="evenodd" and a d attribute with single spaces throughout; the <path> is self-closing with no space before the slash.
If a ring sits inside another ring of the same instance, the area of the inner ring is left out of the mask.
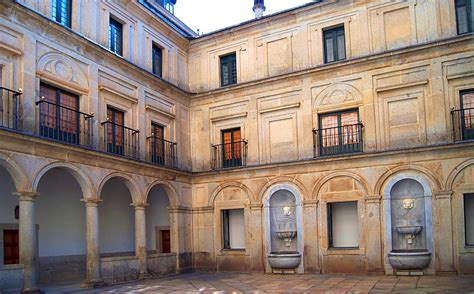
<path id="1" fill-rule="evenodd" d="M 86 280 L 83 287 L 94 288 L 103 283 L 100 274 L 99 199 L 86 199 Z"/>

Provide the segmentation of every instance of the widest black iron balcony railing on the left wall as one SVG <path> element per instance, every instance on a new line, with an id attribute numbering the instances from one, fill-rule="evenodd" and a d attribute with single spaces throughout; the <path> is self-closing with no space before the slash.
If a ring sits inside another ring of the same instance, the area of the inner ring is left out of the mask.
<path id="1" fill-rule="evenodd" d="M 43 98 L 39 107 L 39 135 L 64 143 L 93 147 L 93 115 Z"/>

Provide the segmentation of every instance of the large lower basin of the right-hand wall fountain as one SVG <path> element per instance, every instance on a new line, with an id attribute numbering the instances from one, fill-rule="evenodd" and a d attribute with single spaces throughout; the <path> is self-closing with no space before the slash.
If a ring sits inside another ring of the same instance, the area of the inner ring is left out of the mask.
<path id="1" fill-rule="evenodd" d="M 423 270 L 430 264 L 431 252 L 425 249 L 392 250 L 388 261 L 397 270 Z"/>

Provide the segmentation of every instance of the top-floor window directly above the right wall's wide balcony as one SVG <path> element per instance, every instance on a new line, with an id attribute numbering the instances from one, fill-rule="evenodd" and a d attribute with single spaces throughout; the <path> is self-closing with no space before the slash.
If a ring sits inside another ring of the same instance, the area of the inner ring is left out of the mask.
<path id="1" fill-rule="evenodd" d="M 344 26 L 323 30 L 324 63 L 346 59 Z"/>

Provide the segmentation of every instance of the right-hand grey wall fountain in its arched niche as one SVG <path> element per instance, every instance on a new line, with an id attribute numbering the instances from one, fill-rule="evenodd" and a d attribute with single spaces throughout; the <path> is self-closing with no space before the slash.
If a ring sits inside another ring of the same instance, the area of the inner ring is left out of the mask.
<path id="1" fill-rule="evenodd" d="M 392 187 L 389 201 L 392 248 L 388 261 L 397 274 L 422 274 L 431 262 L 427 246 L 431 223 L 426 217 L 431 209 L 427 209 L 423 186 L 413 179 L 401 180 Z"/>

